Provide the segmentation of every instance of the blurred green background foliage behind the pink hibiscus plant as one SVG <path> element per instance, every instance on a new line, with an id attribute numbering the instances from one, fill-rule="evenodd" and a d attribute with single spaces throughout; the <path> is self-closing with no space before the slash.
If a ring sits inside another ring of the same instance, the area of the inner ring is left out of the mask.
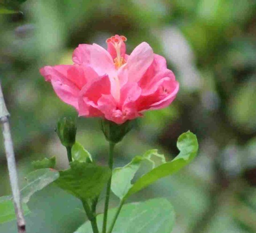
<path id="1" fill-rule="evenodd" d="M 128 53 L 147 41 L 165 56 L 181 88 L 171 106 L 138 120 L 117 145 L 115 166 L 151 148 L 171 159 L 178 136 L 188 130 L 200 144 L 189 167 L 131 201 L 169 199 L 177 213 L 174 233 L 256 232 L 255 0 L 28 0 L 21 11 L 0 15 L 0 78 L 20 186 L 33 160 L 55 155 L 58 168 L 67 168 L 54 128 L 60 116 L 77 115 L 38 69 L 71 64 L 78 44 L 105 47 L 105 39 L 120 34 L 128 38 Z M 79 118 L 78 124 L 78 142 L 106 164 L 98 119 Z M 10 192 L 1 143 L 0 195 Z M 99 211 L 102 206 L 103 200 Z M 54 185 L 33 195 L 29 207 L 29 233 L 70 233 L 86 220 L 78 199 Z M 0 225 L 0 232 L 17 232 L 16 223 Z"/>

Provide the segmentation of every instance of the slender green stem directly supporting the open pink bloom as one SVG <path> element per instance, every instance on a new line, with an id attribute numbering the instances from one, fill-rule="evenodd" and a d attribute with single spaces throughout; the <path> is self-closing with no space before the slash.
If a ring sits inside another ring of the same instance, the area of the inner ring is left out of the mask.
<path id="1" fill-rule="evenodd" d="M 115 147 L 115 143 L 109 142 L 109 159 L 108 159 L 108 167 L 113 169 L 113 150 Z M 104 218 L 103 218 L 103 227 L 102 227 L 102 232 L 106 233 L 107 232 L 107 220 L 108 220 L 108 204 L 109 204 L 109 197 L 110 197 L 110 189 L 111 189 L 111 180 L 112 180 L 112 175 L 108 180 L 107 184 L 107 192 L 106 192 L 106 199 L 105 199 L 105 207 L 104 207 Z"/>

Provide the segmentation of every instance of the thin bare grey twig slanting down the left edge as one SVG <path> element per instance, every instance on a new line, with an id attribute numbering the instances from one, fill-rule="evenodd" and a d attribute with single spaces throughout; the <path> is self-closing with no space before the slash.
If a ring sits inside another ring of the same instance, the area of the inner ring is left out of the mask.
<path id="1" fill-rule="evenodd" d="M 2 125 L 3 143 L 5 144 L 5 153 L 9 170 L 11 190 L 13 192 L 13 202 L 17 217 L 17 225 L 19 233 L 26 233 L 26 224 L 21 205 L 21 194 L 19 193 L 18 176 L 15 164 L 15 156 L 13 149 L 13 140 L 11 139 L 11 131 L 9 125 L 9 113 L 6 109 L 5 100 L 3 99 L 2 86 L 0 82 L 0 123 Z"/>

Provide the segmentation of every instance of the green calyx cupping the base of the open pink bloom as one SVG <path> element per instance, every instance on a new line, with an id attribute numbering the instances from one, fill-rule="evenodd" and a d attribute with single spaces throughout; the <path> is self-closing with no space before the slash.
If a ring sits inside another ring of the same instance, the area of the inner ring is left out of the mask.
<path id="1" fill-rule="evenodd" d="M 119 143 L 124 136 L 132 129 L 132 121 L 127 120 L 123 124 L 116 124 L 107 119 L 101 119 L 101 130 L 108 142 Z"/>

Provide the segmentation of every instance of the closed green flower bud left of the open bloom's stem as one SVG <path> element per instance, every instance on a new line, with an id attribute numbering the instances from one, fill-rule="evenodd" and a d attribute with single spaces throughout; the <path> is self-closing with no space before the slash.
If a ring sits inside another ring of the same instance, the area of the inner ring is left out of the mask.
<path id="1" fill-rule="evenodd" d="M 56 132 L 65 147 L 72 147 L 76 142 L 76 122 L 73 118 L 64 117 L 58 120 Z"/>

